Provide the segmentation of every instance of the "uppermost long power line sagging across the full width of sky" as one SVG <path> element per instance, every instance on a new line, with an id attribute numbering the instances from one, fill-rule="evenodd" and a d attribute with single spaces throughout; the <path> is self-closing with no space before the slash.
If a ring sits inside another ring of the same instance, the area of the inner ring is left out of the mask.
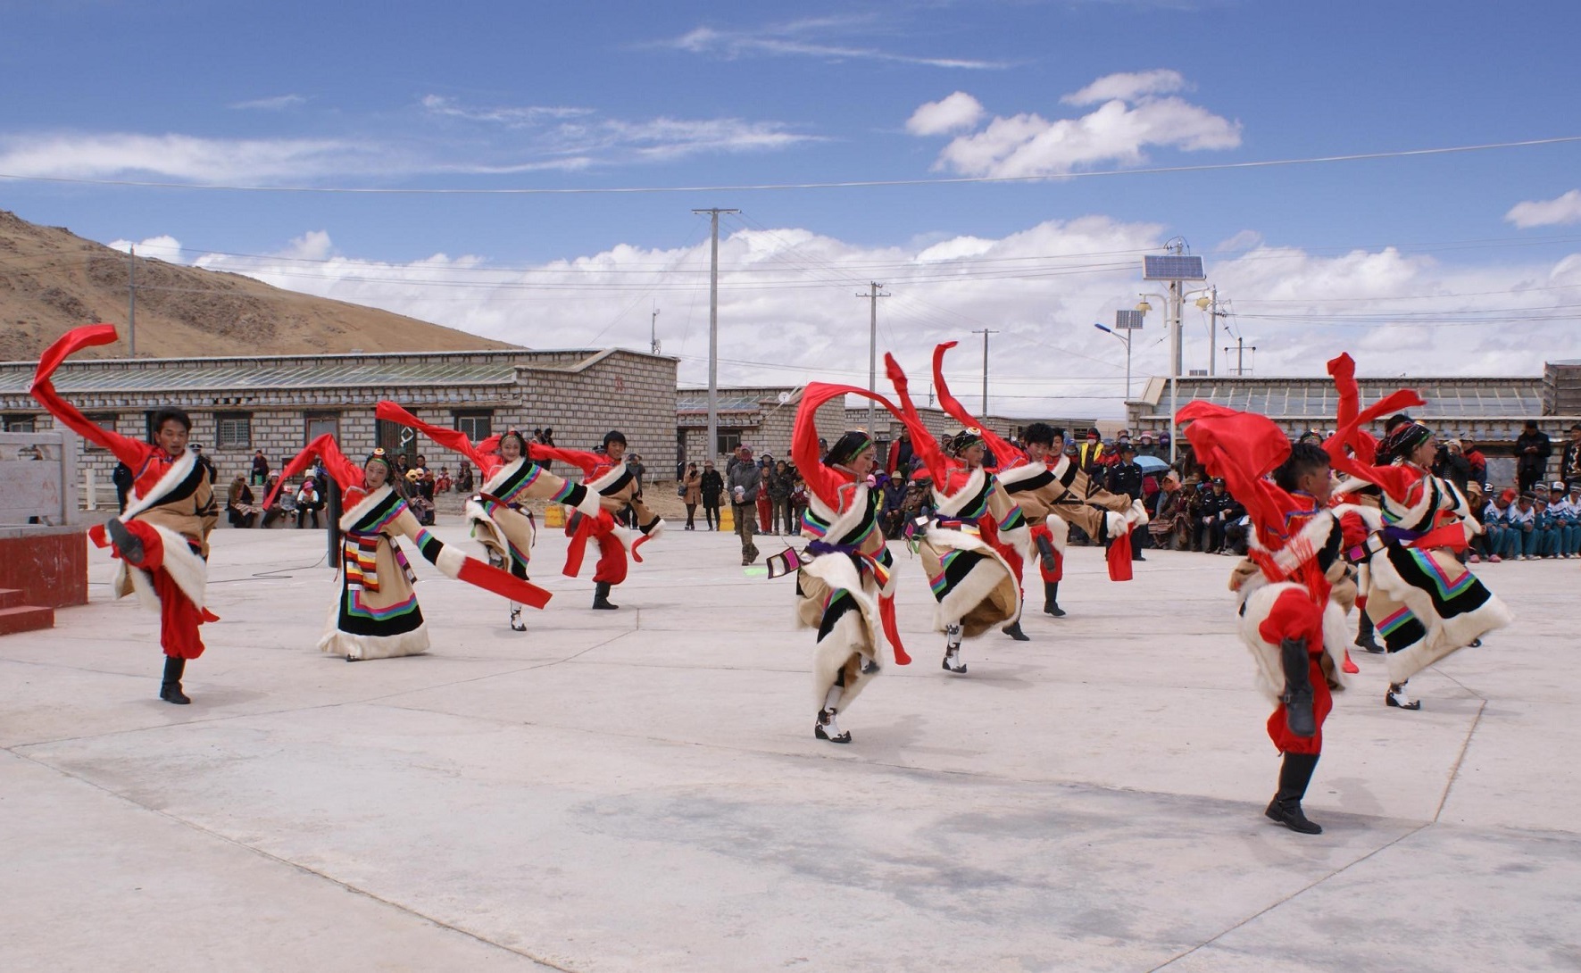
<path id="1" fill-rule="evenodd" d="M 748 184 L 748 185 L 504 187 L 504 188 L 313 187 L 313 185 L 240 185 L 240 184 L 217 184 L 217 182 L 153 182 L 153 180 L 138 180 L 138 179 L 79 179 L 70 176 L 21 176 L 13 172 L 0 172 L 0 179 L 13 179 L 17 182 L 60 182 L 70 185 L 103 185 L 103 187 L 152 188 L 152 190 L 220 190 L 232 193 L 323 193 L 323 195 L 338 193 L 338 195 L 364 195 L 364 196 L 609 196 L 609 195 L 639 195 L 639 193 L 754 193 L 754 191 L 789 191 L 789 190 L 919 187 L 919 185 L 1061 182 L 1066 179 L 1094 179 L 1102 176 L 1160 176 L 1170 172 L 1266 169 L 1274 166 L 1312 166 L 1312 165 L 1328 165 L 1328 163 L 1369 161 L 1382 158 L 1412 158 L 1420 155 L 1488 152 L 1494 149 L 1526 149 L 1534 146 L 1557 146 L 1564 142 L 1581 142 L 1581 134 L 1565 134 L 1565 136 L 1554 136 L 1543 139 L 1521 139 L 1513 142 L 1485 142 L 1478 146 L 1448 146 L 1439 149 L 1353 152 L 1349 155 L 1314 155 L 1307 158 L 1271 158 L 1271 160 L 1255 160 L 1241 163 L 1202 163 L 1195 166 L 1088 169 L 1088 171 L 1072 171 L 1072 172 L 1048 172 L 1043 176 L 953 176 L 953 177 L 936 177 L 936 179 L 855 179 L 843 182 L 789 182 L 789 184 Z"/>

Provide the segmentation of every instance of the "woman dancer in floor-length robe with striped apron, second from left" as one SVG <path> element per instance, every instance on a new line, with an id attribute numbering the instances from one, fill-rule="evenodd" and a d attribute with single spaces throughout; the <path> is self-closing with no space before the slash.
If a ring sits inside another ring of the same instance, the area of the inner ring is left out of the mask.
<path id="1" fill-rule="evenodd" d="M 340 484 L 345 509 L 338 524 L 343 532 L 340 598 L 330 612 L 329 631 L 318 642 L 321 652 L 359 661 L 428 650 L 428 628 L 413 590 L 417 576 L 400 549 L 400 536 L 409 538 L 447 577 L 533 608 L 549 603 L 549 592 L 466 557 L 417 524 L 392 486 L 395 465 L 384 449 L 375 449 L 359 467 L 340 452 L 332 435 L 324 433 L 286 465 L 280 483 L 315 460 L 321 460 L 326 475 Z"/>

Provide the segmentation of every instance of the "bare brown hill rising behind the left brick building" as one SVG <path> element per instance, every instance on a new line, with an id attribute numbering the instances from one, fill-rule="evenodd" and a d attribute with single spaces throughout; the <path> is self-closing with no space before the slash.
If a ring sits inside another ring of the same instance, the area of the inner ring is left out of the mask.
<path id="1" fill-rule="evenodd" d="M 36 359 L 66 329 L 109 321 L 126 356 L 128 256 L 68 229 L 0 210 L 0 361 Z M 386 310 L 136 258 L 138 356 L 471 351 L 512 348 Z"/>

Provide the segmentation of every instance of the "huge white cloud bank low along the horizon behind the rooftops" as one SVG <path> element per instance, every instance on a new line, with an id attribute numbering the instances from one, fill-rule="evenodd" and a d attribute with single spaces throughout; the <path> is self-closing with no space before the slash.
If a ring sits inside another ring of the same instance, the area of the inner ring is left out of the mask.
<path id="1" fill-rule="evenodd" d="M 936 342 L 993 335 L 994 411 L 1121 415 L 1124 348 L 1092 329 L 1137 293 L 1140 256 L 1168 228 L 1102 215 L 1045 221 L 999 239 L 957 236 L 866 247 L 802 228 L 737 229 L 721 240 L 721 381 L 866 381 L 868 305 L 852 294 L 882 280 L 879 348 L 895 350 L 925 394 Z M 139 253 L 142 245 L 139 244 Z M 272 258 L 206 256 L 198 266 L 277 286 L 384 307 L 528 346 L 645 348 L 658 304 L 666 353 L 683 383 L 707 378 L 708 244 L 615 245 L 530 267 L 436 253 L 413 263 L 346 256 L 319 229 Z M 1208 259 L 1208 274 L 1257 348 L 1258 375 L 1322 375 L 1352 351 L 1368 375 L 1535 375 L 1545 359 L 1581 358 L 1556 327 L 1581 291 L 1581 255 L 1553 266 L 1443 266 L 1394 248 L 1314 255 L 1255 247 Z M 1157 307 L 1154 301 L 1154 307 Z M 1206 367 L 1206 315 L 1186 304 L 1186 365 Z M 1213 346 L 1230 339 L 1222 332 Z M 957 351 L 952 378 L 975 389 L 979 351 Z M 1402 358 L 1402 351 L 1409 358 Z M 1168 369 L 1162 313 L 1135 335 L 1134 388 Z M 1222 362 L 1222 353 L 1221 353 Z M 974 396 L 968 396 L 972 399 Z"/>

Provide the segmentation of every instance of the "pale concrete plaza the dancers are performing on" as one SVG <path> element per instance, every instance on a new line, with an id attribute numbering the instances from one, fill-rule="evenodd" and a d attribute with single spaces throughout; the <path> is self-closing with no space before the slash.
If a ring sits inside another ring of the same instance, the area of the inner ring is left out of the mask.
<path id="1" fill-rule="evenodd" d="M 0 970 L 1581 968 L 1575 562 L 1480 566 L 1518 623 L 1412 680 L 1421 712 L 1356 655 L 1306 837 L 1262 813 L 1225 557 L 1110 584 L 1073 549 L 1070 615 L 957 677 L 898 552 L 917 661 L 836 747 L 794 581 L 729 535 L 648 544 L 593 612 L 545 532 L 525 634 L 419 560 L 433 650 L 354 664 L 315 650 L 323 554 L 215 533 L 193 706 L 103 552 L 90 604 L 0 639 Z"/>

